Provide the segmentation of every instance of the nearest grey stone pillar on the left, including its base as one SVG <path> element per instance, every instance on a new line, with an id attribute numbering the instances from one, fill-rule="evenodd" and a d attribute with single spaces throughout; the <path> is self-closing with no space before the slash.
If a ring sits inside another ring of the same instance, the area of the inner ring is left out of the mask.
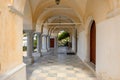
<path id="1" fill-rule="evenodd" d="M 31 64 L 34 62 L 32 53 L 33 53 L 33 31 L 26 31 L 27 33 L 27 56 L 24 59 L 26 64 Z"/>

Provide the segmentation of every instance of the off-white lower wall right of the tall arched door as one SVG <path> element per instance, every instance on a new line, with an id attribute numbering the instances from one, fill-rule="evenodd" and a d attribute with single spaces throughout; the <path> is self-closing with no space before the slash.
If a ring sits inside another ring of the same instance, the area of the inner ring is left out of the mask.
<path id="1" fill-rule="evenodd" d="M 97 74 L 103 80 L 120 80 L 120 16 L 98 23 L 96 40 Z"/>

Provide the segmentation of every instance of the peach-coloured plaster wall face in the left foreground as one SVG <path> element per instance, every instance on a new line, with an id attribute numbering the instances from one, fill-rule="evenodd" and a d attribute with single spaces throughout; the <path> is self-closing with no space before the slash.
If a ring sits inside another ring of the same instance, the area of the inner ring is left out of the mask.
<path id="1" fill-rule="evenodd" d="M 9 11 L 9 3 L 0 1 L 0 74 L 22 64 L 22 17 Z"/>

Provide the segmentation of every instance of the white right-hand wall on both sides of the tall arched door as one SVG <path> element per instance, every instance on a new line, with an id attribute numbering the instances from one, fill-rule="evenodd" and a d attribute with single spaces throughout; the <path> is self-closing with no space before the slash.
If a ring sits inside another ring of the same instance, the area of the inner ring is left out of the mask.
<path id="1" fill-rule="evenodd" d="M 89 30 L 86 30 L 89 31 Z M 77 55 L 89 61 L 89 34 L 81 31 Z M 120 80 L 120 16 L 96 24 L 96 73 L 100 80 Z"/>

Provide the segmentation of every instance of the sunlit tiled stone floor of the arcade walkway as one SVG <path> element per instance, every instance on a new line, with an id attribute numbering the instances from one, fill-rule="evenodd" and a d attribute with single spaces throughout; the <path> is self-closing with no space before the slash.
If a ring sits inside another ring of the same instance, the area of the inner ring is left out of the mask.
<path id="1" fill-rule="evenodd" d="M 77 56 L 65 53 L 63 48 L 51 51 L 28 65 L 28 80 L 97 80 Z"/>

